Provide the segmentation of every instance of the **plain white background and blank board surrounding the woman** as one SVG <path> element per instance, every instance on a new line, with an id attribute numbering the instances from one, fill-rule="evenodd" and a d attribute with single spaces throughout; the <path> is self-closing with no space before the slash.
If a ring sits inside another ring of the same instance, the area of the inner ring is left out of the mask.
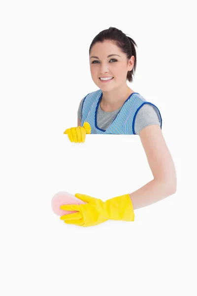
<path id="1" fill-rule="evenodd" d="M 193 3 L 0 2 L 0 295 L 196 295 Z M 58 191 L 104 201 L 153 179 L 139 136 L 63 134 L 98 89 L 89 47 L 110 26 L 137 43 L 128 85 L 161 112 L 177 191 L 135 222 L 67 225 Z"/>

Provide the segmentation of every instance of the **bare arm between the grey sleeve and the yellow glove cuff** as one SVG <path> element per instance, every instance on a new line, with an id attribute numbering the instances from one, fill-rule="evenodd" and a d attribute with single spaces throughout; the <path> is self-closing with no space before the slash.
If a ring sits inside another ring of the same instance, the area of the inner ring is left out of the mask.
<path id="1" fill-rule="evenodd" d="M 130 193 L 133 209 L 156 203 L 176 192 L 176 171 L 161 127 L 149 125 L 139 133 L 154 179 Z"/>

